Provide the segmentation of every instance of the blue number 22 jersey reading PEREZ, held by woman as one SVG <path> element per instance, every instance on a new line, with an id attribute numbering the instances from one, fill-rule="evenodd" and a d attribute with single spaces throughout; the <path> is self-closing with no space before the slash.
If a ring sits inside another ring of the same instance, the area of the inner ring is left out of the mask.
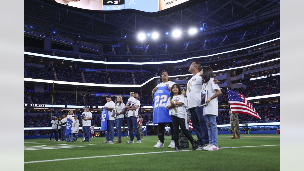
<path id="1" fill-rule="evenodd" d="M 172 122 L 169 110 L 165 108 L 169 98 L 170 91 L 168 90 L 168 86 L 157 88 L 152 102 L 153 124 Z"/>

